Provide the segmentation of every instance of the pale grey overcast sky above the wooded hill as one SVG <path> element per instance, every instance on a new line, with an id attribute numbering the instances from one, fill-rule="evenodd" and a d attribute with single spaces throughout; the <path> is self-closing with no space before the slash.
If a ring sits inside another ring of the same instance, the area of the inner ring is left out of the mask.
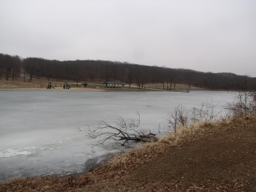
<path id="1" fill-rule="evenodd" d="M 256 76 L 255 0 L 0 0 L 0 52 Z"/>

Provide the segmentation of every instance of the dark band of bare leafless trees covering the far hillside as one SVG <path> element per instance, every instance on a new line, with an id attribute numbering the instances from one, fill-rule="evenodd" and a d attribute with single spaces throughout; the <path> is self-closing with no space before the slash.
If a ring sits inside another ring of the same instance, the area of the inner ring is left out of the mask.
<path id="1" fill-rule="evenodd" d="M 129 62 L 109 60 L 47 60 L 38 57 L 21 58 L 18 55 L 0 53 L 0 80 L 12 81 L 22 74 L 33 78 L 46 77 L 68 81 L 124 82 L 137 84 L 142 89 L 146 84 L 162 84 L 163 89 L 175 89 L 177 84 L 214 89 L 255 89 L 256 78 L 233 73 L 201 72 L 184 68 L 145 66 Z"/>

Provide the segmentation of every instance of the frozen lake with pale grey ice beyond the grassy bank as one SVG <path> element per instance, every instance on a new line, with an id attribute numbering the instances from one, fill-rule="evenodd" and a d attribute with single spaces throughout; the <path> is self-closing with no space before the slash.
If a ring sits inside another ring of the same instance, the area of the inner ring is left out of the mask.
<path id="1" fill-rule="evenodd" d="M 121 148 L 113 141 L 97 145 L 98 140 L 85 136 L 83 127 L 86 129 L 87 125 L 98 125 L 99 121 L 115 125 L 119 116 L 128 119 L 138 111 L 140 126 L 162 136 L 166 130 L 164 121 L 177 105 L 190 109 L 208 101 L 219 103 L 215 108 L 219 112 L 233 97 L 217 91 L 1 91 L 0 99 L 3 182 L 21 177 L 82 175 L 99 164 L 104 154 Z"/>

